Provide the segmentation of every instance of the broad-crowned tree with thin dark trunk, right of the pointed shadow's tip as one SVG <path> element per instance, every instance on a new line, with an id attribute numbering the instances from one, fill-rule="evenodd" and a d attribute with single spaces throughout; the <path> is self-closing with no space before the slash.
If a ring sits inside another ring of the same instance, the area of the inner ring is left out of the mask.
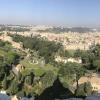
<path id="1" fill-rule="evenodd" d="M 59 70 L 59 77 L 65 82 L 68 88 L 73 87 L 73 83 L 77 83 L 78 88 L 79 79 L 85 74 L 84 68 L 81 64 L 68 62 L 63 64 Z"/>

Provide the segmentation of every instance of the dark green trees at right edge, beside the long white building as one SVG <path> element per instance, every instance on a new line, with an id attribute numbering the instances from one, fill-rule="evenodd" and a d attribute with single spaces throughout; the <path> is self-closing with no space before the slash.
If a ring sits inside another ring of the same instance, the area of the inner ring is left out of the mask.
<path id="1" fill-rule="evenodd" d="M 100 70 L 100 44 L 94 44 L 87 51 L 76 50 L 75 57 L 82 59 L 83 65 L 88 70 L 99 72 Z"/>

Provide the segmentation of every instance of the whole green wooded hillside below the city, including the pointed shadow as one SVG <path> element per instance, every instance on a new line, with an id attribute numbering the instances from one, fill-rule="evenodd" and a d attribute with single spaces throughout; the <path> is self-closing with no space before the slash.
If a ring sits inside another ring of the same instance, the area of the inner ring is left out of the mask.
<path id="1" fill-rule="evenodd" d="M 13 49 L 9 42 L 0 41 L 1 90 L 6 90 L 10 95 L 35 96 L 36 100 L 85 97 L 96 92 L 92 91 L 89 82 L 80 85 L 79 79 L 86 74 L 100 72 L 99 44 L 91 46 L 87 51 L 67 51 L 60 43 L 38 36 L 11 37 L 23 45 L 23 51 Z M 80 58 L 82 63 L 56 62 L 55 56 Z M 17 65 L 21 66 L 20 70 L 16 70 Z"/>

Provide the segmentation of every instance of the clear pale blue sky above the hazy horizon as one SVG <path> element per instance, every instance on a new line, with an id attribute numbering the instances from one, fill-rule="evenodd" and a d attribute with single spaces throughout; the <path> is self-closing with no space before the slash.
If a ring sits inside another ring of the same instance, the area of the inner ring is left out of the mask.
<path id="1" fill-rule="evenodd" d="M 0 0 L 0 24 L 100 26 L 100 0 Z"/>

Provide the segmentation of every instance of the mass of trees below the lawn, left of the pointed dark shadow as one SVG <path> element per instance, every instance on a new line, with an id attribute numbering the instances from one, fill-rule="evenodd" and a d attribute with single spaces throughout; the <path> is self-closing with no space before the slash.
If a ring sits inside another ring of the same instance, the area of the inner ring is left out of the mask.
<path id="1" fill-rule="evenodd" d="M 4 75 L 2 81 L 0 80 L 0 89 L 3 88 L 9 95 L 17 95 L 18 97 L 39 97 L 46 88 L 53 85 L 55 79 L 56 76 L 51 71 L 45 72 L 38 78 L 34 75 L 34 71 L 30 71 L 25 75 L 21 72 L 15 75 L 10 71 L 9 74 Z"/>

